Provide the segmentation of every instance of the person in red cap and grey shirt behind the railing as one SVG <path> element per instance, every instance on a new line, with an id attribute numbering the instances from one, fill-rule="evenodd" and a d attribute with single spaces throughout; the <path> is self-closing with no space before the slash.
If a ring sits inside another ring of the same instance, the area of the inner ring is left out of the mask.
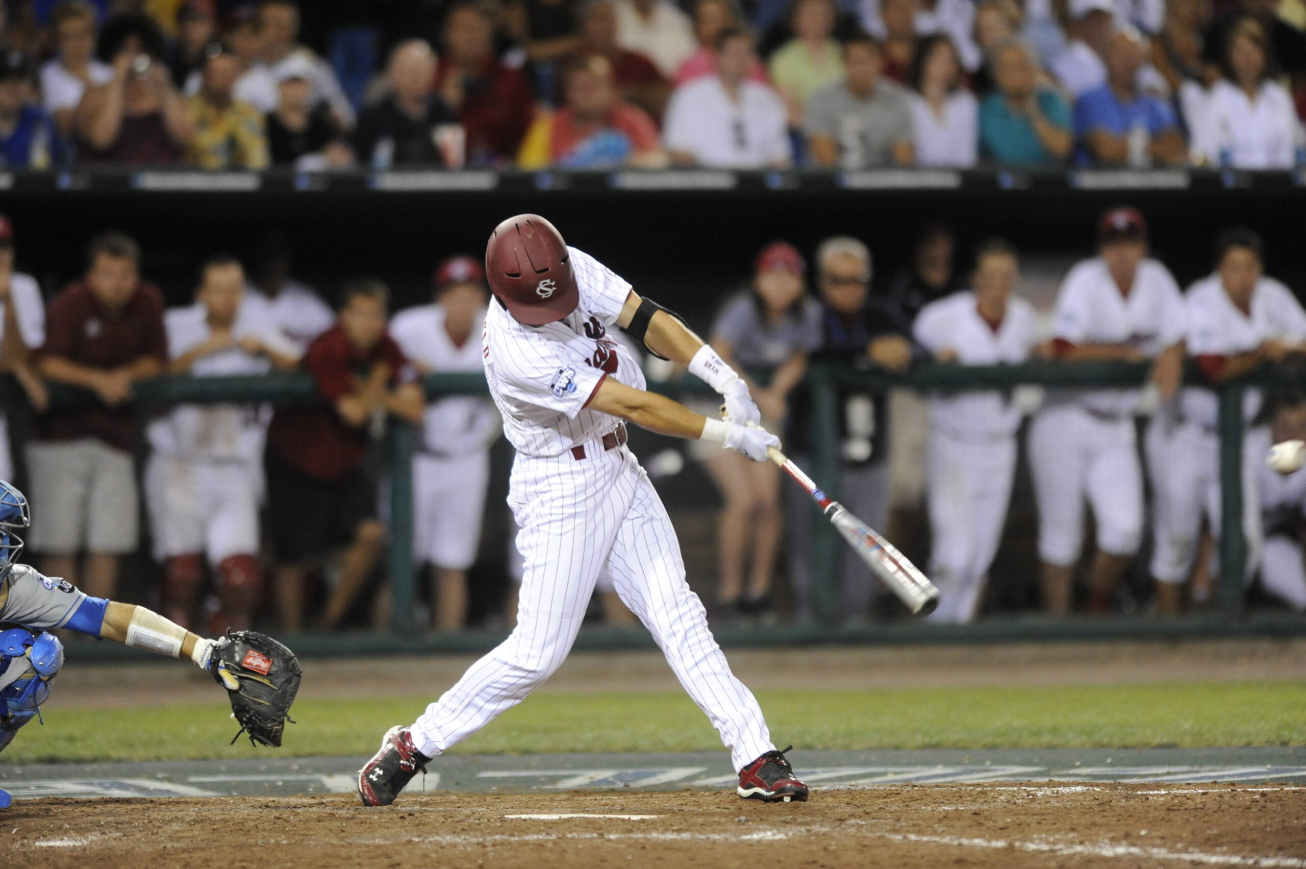
<path id="1" fill-rule="evenodd" d="M 757 255 L 750 289 L 730 299 L 712 324 L 712 346 L 727 365 L 741 374 L 765 370 L 765 382 L 751 382 L 751 388 L 768 431 L 784 430 L 789 393 L 807 370 L 807 354 L 820 345 L 820 306 L 803 291 L 804 271 L 791 244 L 768 244 Z M 784 531 L 780 469 L 729 451 L 714 453 L 707 467 L 725 498 L 717 529 L 717 602 L 724 614 L 769 615 L 771 578 Z"/>

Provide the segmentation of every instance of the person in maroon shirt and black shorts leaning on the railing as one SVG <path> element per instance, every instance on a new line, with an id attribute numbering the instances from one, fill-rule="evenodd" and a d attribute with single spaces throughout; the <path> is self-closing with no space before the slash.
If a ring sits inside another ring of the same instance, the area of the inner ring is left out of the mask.
<path id="1" fill-rule="evenodd" d="M 287 631 L 302 626 L 308 567 L 342 541 L 350 541 L 349 549 L 323 627 L 340 623 L 363 589 L 385 538 L 376 519 L 376 486 L 363 469 L 368 442 L 379 436 L 387 414 L 422 421 L 422 388 L 385 332 L 388 297 L 376 280 L 345 286 L 337 324 L 304 354 L 330 406 L 282 406 L 268 427 L 264 461 L 277 609 Z"/>

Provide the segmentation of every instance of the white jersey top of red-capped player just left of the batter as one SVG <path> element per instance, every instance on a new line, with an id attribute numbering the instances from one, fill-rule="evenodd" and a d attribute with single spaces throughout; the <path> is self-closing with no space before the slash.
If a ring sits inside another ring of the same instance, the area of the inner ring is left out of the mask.
<path id="1" fill-rule="evenodd" d="M 482 325 L 485 315 L 471 327 Z M 390 319 L 390 337 L 410 361 L 427 371 L 481 371 L 481 346 L 471 338 L 458 346 L 444 328 L 444 306 L 422 304 Z M 422 431 L 426 451 L 461 456 L 488 448 L 499 425 L 494 408 L 482 397 L 456 395 L 426 405 Z M 498 435 L 495 435 L 498 436 Z"/>

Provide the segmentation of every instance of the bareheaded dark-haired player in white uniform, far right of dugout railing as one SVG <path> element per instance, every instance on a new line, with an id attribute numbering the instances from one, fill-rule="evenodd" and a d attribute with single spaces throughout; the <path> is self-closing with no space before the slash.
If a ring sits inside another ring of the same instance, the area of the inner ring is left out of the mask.
<path id="1" fill-rule="evenodd" d="M 1185 294 L 1187 353 L 1208 382 L 1224 383 L 1247 371 L 1289 358 L 1306 358 L 1306 311 L 1292 290 L 1264 274 L 1264 248 L 1251 230 L 1234 229 L 1216 242 L 1215 273 Z M 1264 430 L 1255 425 L 1260 389 L 1243 396 L 1242 533 L 1246 541 L 1245 576 L 1260 563 L 1264 532 L 1259 469 L 1264 464 Z M 1218 541 L 1220 494 L 1218 399 L 1209 389 L 1186 387 L 1179 399 L 1182 422 L 1169 451 L 1165 532 L 1157 534 L 1152 576 L 1162 614 L 1178 614 L 1182 583 L 1192 570 L 1203 516 Z M 1221 578 L 1228 580 L 1229 578 Z"/>

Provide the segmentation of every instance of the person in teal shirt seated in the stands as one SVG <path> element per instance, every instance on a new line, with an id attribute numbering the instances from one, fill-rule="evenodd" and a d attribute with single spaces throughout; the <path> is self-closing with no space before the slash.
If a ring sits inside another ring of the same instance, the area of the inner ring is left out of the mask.
<path id="1" fill-rule="evenodd" d="M 1033 51 L 1019 39 L 993 51 L 998 90 L 980 103 L 980 152 L 1003 166 L 1053 169 L 1075 146 L 1070 107 L 1038 84 Z"/>

